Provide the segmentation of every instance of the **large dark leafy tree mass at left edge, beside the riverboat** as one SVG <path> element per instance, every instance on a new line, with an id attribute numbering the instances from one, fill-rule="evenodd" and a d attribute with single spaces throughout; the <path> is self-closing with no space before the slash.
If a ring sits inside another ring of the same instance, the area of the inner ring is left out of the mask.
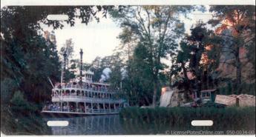
<path id="1" fill-rule="evenodd" d="M 14 22 L 8 22 L 12 23 Z M 4 24 L 1 24 L 1 27 L 4 27 Z M 56 45 L 38 36 L 36 30 L 26 28 L 25 24 L 21 25 L 24 31 L 15 34 L 13 30 L 11 35 L 15 35 L 14 38 L 9 38 L 4 33 L 4 39 L 1 41 L 1 81 L 11 78 L 14 81 L 13 86 L 26 93 L 27 99 L 40 102 L 50 95 L 50 92 L 47 92 L 51 88 L 47 77 L 59 81 L 59 57 Z M 3 28 L 5 29 L 13 28 Z M 35 36 L 30 36 L 31 33 Z M 19 36 L 22 36 L 22 39 L 18 39 Z M 13 94 L 14 90 L 10 89 L 9 92 Z"/>

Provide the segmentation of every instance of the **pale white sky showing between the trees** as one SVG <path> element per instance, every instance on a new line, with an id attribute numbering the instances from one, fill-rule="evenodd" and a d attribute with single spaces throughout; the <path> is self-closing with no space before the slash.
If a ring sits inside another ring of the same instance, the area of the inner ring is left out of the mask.
<path id="1" fill-rule="evenodd" d="M 209 9 L 209 6 L 206 6 Z M 186 33 L 190 33 L 192 24 L 201 19 L 203 22 L 211 19 L 209 12 L 194 12 L 188 15 L 190 19 L 181 17 L 185 23 Z M 43 26 L 43 30 L 51 31 L 50 27 Z M 66 25 L 63 29 L 54 30 L 56 35 L 57 50 L 65 44 L 67 39 L 72 39 L 74 43 L 74 59 L 79 59 L 79 50 L 82 49 L 83 61 L 91 63 L 96 56 L 111 56 L 113 50 L 120 46 L 120 41 L 116 37 L 121 33 L 121 28 L 112 19 L 100 19 L 89 22 L 88 25 L 81 24 L 77 19 L 74 27 Z"/>

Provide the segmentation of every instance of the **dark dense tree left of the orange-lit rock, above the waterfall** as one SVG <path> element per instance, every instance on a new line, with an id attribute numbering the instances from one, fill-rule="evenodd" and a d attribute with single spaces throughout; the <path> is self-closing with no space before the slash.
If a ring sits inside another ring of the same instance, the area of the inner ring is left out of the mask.
<path id="1" fill-rule="evenodd" d="M 177 63 L 181 64 L 183 69 L 186 90 L 209 88 L 209 80 L 213 79 L 212 74 L 219 64 L 220 43 L 221 39 L 213 31 L 207 30 L 206 24 L 203 23 L 191 28 L 191 35 L 180 42 L 181 50 L 177 55 Z M 188 76 L 188 73 L 191 76 Z"/>

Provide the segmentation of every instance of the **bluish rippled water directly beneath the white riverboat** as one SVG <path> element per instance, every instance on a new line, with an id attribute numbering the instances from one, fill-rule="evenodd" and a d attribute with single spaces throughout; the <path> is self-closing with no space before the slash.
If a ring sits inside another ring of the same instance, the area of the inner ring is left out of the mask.
<path id="1" fill-rule="evenodd" d="M 118 115 L 45 118 L 45 121 L 68 121 L 68 127 L 51 127 L 53 135 L 123 134 Z"/>

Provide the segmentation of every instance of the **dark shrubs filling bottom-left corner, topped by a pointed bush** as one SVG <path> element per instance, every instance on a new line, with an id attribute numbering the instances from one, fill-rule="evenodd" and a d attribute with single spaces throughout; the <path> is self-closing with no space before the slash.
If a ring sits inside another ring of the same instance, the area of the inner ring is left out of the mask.
<path id="1" fill-rule="evenodd" d="M 27 101 L 16 92 L 9 103 L 1 104 L 1 132 L 6 135 L 50 135 L 50 127 L 40 115 L 42 105 Z"/>

